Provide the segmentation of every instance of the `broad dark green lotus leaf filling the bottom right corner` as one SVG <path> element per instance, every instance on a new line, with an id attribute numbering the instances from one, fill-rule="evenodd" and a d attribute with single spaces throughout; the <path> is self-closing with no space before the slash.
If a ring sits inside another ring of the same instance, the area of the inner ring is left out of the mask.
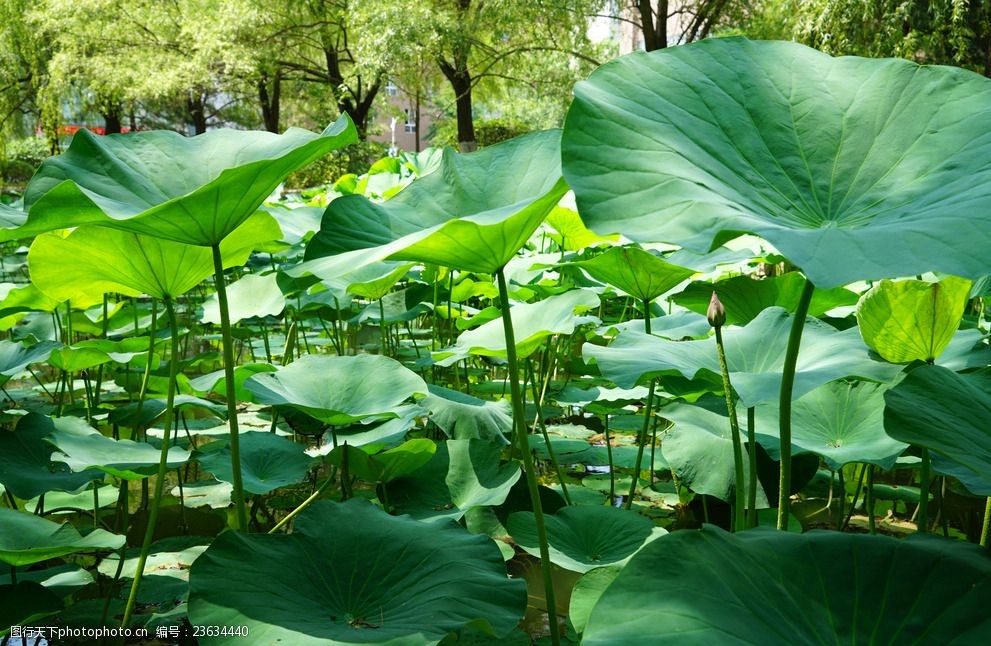
<path id="1" fill-rule="evenodd" d="M 589 617 L 583 644 L 974 644 L 991 560 L 911 537 L 706 525 L 654 541 Z"/>

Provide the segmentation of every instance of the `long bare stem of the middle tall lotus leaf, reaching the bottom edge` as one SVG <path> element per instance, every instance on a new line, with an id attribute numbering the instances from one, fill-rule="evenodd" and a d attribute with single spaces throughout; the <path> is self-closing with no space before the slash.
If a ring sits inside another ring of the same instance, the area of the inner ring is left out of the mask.
<path id="1" fill-rule="evenodd" d="M 554 599 L 554 582 L 551 578 L 551 556 L 547 544 L 547 528 L 544 525 L 544 509 L 540 504 L 540 489 L 537 486 L 537 470 L 533 465 L 533 454 L 526 428 L 523 410 L 523 395 L 520 392 L 519 367 L 516 360 L 516 335 L 513 333 L 513 319 L 509 313 L 509 288 L 502 269 L 496 272 L 499 282 L 499 300 L 502 302 L 502 329 L 506 338 L 506 361 L 509 363 L 509 389 L 513 398 L 513 425 L 518 450 L 523 458 L 523 472 L 533 505 L 533 518 L 537 526 L 537 540 L 540 542 L 540 563 L 544 575 L 544 593 L 547 600 L 547 622 L 551 629 L 551 643 L 560 646 L 561 636 L 557 625 L 557 602 Z"/>

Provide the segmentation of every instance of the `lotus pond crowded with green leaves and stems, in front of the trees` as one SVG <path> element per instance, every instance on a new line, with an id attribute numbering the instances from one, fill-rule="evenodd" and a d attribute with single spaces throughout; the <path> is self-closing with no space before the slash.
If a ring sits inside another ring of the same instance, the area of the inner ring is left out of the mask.
<path id="1" fill-rule="evenodd" d="M 347 118 L 80 131 L 0 205 L 0 638 L 986 641 L 988 124 L 729 38 L 288 196 Z"/>

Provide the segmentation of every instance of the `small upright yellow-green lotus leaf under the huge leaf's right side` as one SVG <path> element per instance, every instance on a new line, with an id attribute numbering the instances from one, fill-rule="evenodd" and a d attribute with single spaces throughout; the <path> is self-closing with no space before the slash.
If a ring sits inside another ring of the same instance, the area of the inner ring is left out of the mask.
<path id="1" fill-rule="evenodd" d="M 970 281 L 882 280 L 857 306 L 864 341 L 888 361 L 934 361 L 960 327 Z"/>

